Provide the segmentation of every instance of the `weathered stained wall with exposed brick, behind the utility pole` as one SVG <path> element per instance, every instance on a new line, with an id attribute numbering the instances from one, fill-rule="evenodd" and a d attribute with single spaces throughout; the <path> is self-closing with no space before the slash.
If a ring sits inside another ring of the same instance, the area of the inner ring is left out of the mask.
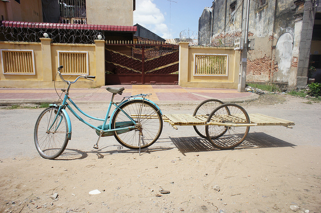
<path id="1" fill-rule="evenodd" d="M 216 0 L 213 3 L 212 41 L 231 37 L 233 32 L 234 35 L 240 34 L 243 5 L 240 5 L 242 1 L 236 2 L 237 11 L 231 23 L 230 6 L 233 2 Z M 301 86 L 307 80 L 311 26 L 315 11 L 321 7 L 313 10 L 311 1 L 305 1 L 303 12 L 303 2 L 296 4 L 292 0 L 266 0 L 262 6 L 250 2 L 249 39 L 255 40 L 255 46 L 248 52 L 247 81 L 286 82 L 292 87 Z"/>

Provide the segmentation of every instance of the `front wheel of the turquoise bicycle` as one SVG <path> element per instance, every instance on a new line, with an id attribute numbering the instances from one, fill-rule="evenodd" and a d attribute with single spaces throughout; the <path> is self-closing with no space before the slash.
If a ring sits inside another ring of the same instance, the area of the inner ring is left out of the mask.
<path id="1" fill-rule="evenodd" d="M 54 159 L 58 157 L 63 153 L 68 143 L 67 119 L 62 112 L 59 112 L 54 122 L 57 113 L 58 108 L 56 107 L 45 109 L 39 115 L 35 125 L 35 145 L 43 158 Z"/>

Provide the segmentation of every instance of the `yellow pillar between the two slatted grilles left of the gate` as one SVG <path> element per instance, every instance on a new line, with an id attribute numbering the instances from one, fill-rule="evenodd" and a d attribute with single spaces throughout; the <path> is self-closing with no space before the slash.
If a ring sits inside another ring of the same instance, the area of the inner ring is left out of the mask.
<path id="1" fill-rule="evenodd" d="M 42 56 L 42 79 L 43 81 L 52 81 L 52 61 L 51 61 L 51 39 L 40 38 L 41 41 L 41 56 Z M 41 73 L 38 71 L 39 77 Z"/>

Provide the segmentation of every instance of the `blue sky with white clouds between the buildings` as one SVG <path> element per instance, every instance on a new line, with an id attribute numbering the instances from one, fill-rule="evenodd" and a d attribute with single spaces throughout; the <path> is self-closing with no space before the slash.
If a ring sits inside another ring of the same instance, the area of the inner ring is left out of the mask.
<path id="1" fill-rule="evenodd" d="M 180 38 L 182 31 L 197 38 L 199 18 L 213 0 L 136 0 L 134 23 L 163 39 Z"/>

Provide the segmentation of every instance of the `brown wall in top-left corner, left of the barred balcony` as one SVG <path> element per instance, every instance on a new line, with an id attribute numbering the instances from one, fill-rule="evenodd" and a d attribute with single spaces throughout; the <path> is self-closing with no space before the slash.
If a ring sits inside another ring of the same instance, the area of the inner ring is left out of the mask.
<path id="1" fill-rule="evenodd" d="M 41 0 L 0 1 L 0 15 L 6 21 L 43 22 Z"/>

